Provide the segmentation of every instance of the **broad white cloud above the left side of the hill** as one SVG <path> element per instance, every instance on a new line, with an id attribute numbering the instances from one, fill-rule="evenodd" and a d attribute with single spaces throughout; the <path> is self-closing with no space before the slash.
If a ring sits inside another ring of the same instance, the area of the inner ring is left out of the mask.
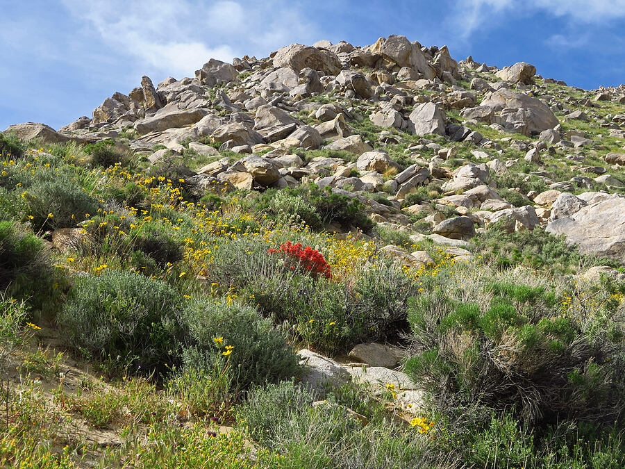
<path id="1" fill-rule="evenodd" d="M 209 58 L 230 61 L 313 40 L 315 26 L 288 0 L 62 0 L 117 54 L 138 69 L 193 76 Z"/>

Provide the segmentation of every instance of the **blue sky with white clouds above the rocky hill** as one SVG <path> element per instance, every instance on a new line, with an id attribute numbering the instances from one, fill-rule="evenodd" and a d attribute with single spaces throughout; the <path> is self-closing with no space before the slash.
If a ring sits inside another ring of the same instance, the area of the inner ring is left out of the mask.
<path id="1" fill-rule="evenodd" d="M 0 0 L 0 11 L 0 130 L 58 129 L 144 74 L 156 84 L 211 57 L 320 39 L 401 34 L 581 88 L 625 82 L 625 0 Z"/>

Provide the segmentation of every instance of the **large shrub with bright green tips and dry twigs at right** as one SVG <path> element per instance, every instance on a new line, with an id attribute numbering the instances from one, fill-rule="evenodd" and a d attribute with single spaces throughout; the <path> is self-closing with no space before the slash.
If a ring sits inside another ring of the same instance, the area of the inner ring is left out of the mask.
<path id="1" fill-rule="evenodd" d="M 623 335 L 606 320 L 617 310 L 601 307 L 596 319 L 580 320 L 575 311 L 563 314 L 567 303 L 542 286 L 483 278 L 472 288 L 440 280 L 410 305 L 418 352 L 406 372 L 443 409 L 460 402 L 514 409 L 524 422 L 609 422 L 625 409 L 616 379 Z"/>

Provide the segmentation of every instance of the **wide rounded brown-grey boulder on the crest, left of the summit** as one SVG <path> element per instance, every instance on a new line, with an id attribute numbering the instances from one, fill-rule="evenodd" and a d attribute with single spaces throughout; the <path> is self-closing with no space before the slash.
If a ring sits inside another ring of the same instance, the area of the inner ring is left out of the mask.
<path id="1" fill-rule="evenodd" d="M 274 55 L 274 67 L 289 67 L 295 72 L 309 67 L 326 75 L 338 75 L 341 72 L 341 63 L 336 54 L 302 44 L 291 44 L 278 49 Z"/>

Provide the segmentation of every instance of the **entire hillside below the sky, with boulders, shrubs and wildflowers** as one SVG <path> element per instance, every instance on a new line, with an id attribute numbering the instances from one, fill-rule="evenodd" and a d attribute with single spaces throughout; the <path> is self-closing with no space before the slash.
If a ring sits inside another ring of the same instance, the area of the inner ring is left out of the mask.
<path id="1" fill-rule="evenodd" d="M 536 72 L 324 40 L 10 126 L 0 466 L 623 467 L 625 85 Z"/>

